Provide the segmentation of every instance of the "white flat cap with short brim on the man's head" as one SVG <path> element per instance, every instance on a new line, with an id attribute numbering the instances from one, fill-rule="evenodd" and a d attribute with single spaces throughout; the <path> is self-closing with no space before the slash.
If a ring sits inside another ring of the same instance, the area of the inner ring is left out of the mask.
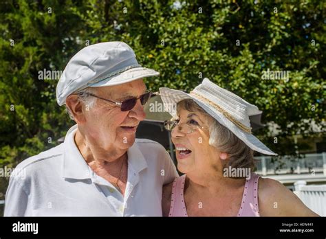
<path id="1" fill-rule="evenodd" d="M 159 74 L 139 65 L 126 43 L 89 45 L 69 60 L 56 86 L 56 102 L 62 106 L 68 95 L 86 87 L 113 86 Z"/>

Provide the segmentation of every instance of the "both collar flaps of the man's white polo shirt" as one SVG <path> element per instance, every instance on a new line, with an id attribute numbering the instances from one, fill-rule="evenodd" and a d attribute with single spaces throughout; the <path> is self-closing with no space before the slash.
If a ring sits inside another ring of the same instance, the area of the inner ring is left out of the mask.
<path id="1" fill-rule="evenodd" d="M 80 154 L 74 140 L 77 124 L 69 128 L 65 141 L 65 152 L 63 154 L 63 177 L 69 179 L 91 179 L 89 166 L 87 165 L 83 155 Z M 134 172 L 147 168 L 147 162 L 138 148 L 137 144 L 133 144 L 128 150 L 128 166 Z"/>

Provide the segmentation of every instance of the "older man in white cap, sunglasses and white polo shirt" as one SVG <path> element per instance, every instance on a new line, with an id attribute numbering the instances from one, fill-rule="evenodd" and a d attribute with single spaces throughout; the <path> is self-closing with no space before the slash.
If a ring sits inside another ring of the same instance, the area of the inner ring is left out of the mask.
<path id="1" fill-rule="evenodd" d="M 122 42 L 80 50 L 56 88 L 76 125 L 63 144 L 17 166 L 5 216 L 162 216 L 175 166 L 160 144 L 135 139 L 151 96 L 142 78 L 158 74 Z"/>

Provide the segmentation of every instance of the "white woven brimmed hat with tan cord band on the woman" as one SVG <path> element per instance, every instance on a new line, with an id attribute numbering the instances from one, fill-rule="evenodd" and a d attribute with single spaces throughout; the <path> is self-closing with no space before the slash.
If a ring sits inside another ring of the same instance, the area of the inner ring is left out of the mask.
<path id="1" fill-rule="evenodd" d="M 194 100 L 204 111 L 211 115 L 223 126 L 232 131 L 241 141 L 252 150 L 265 155 L 277 155 L 251 133 L 249 115 L 259 113 L 257 106 L 246 102 L 234 93 L 223 89 L 217 84 L 204 78 L 191 93 L 169 88 L 160 88 L 164 108 L 176 116 L 175 107 L 182 100 Z"/>

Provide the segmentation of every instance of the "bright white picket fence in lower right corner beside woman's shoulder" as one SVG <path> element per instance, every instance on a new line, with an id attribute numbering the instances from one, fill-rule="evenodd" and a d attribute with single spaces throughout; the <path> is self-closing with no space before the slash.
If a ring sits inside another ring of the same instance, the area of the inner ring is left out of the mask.
<path id="1" fill-rule="evenodd" d="M 320 216 L 326 216 L 326 185 L 306 185 L 305 181 L 294 183 L 294 193 L 309 209 Z"/>

